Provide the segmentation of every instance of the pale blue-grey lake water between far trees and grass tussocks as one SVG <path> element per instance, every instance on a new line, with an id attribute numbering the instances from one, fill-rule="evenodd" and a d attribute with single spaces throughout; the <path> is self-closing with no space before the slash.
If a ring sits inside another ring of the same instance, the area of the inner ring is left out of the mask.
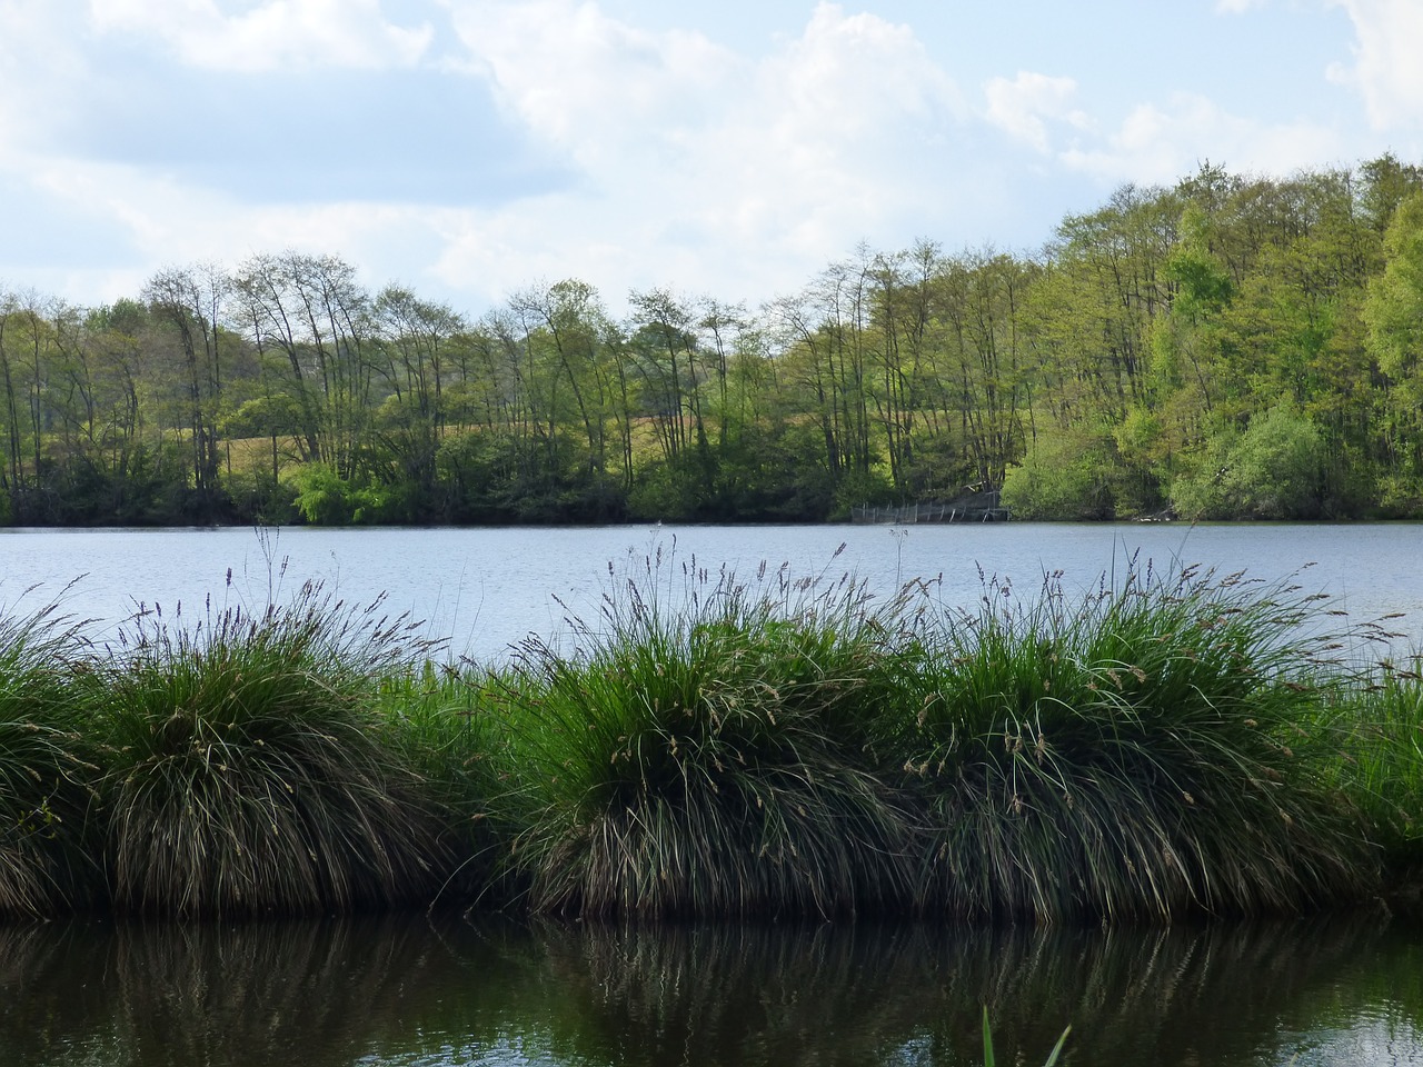
<path id="1" fill-rule="evenodd" d="M 1402 612 L 1390 625 L 1423 644 L 1423 525 L 1409 524 L 6 529 L 0 607 L 23 613 L 63 593 L 73 615 L 98 620 L 105 633 L 139 605 L 158 605 L 166 617 L 181 606 L 192 619 L 209 606 L 260 607 L 319 579 L 353 605 L 384 595 L 393 613 L 410 612 L 448 639 L 451 653 L 495 660 L 529 633 L 566 633 L 571 613 L 596 620 L 601 595 L 659 556 L 673 593 L 693 562 L 743 578 L 764 562 L 795 576 L 851 573 L 884 593 L 942 576 L 938 595 L 951 605 L 978 600 L 980 568 L 1013 579 L 1019 595 L 1054 570 L 1070 589 L 1086 589 L 1120 576 L 1131 556 L 1158 569 L 1198 563 L 1269 582 L 1298 572 L 1305 592 L 1328 593 L 1328 606 L 1353 620 Z"/>

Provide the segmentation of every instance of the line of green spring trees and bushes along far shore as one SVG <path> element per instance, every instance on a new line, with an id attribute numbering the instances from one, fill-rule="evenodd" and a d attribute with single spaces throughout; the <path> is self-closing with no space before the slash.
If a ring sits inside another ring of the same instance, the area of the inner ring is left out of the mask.
<path id="1" fill-rule="evenodd" d="M 480 319 L 334 256 L 0 289 L 11 524 L 1423 515 L 1423 169 L 1118 189 L 1036 255 L 857 249 L 757 309 Z"/>

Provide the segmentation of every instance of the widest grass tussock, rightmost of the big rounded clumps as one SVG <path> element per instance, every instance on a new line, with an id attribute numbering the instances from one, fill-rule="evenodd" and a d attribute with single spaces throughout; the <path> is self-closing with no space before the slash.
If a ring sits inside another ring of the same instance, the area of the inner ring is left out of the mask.
<path id="1" fill-rule="evenodd" d="M 1328 787 L 1346 676 L 1291 588 L 1133 565 L 1056 578 L 921 636 L 895 741 L 926 812 L 925 906 L 966 919 L 1168 920 L 1356 898 L 1375 859 Z"/>

